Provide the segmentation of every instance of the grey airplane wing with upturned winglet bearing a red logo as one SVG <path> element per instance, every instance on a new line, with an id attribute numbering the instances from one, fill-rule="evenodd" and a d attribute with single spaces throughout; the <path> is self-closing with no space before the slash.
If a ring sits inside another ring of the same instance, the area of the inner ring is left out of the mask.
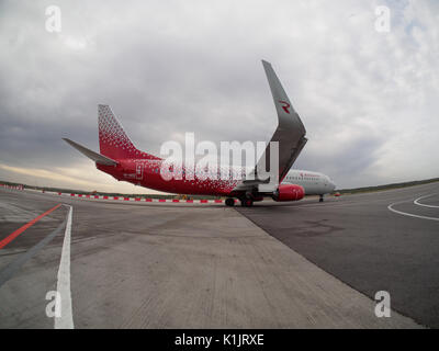
<path id="1" fill-rule="evenodd" d="M 301 117 L 295 112 L 289 97 L 282 88 L 278 76 L 275 75 L 271 64 L 262 60 L 263 69 L 266 70 L 267 79 L 270 84 L 271 94 L 274 100 L 275 110 L 278 113 L 279 125 L 270 141 L 279 143 L 279 180 L 275 185 L 282 182 L 286 173 L 290 171 L 294 161 L 301 154 L 307 139 L 305 137 L 306 129 L 301 121 Z M 244 180 L 234 191 L 244 191 L 254 189 L 255 182 L 259 184 L 267 183 L 267 180 L 259 180 L 257 170 L 262 169 L 263 158 L 266 159 L 267 168 L 270 167 L 270 145 L 267 146 L 264 152 L 259 159 L 256 169 L 254 170 L 254 179 Z M 273 189 L 274 190 L 274 189 Z"/>

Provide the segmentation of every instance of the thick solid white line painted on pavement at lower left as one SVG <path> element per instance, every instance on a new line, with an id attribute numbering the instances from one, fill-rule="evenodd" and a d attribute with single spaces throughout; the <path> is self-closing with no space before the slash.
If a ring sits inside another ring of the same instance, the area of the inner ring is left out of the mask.
<path id="1" fill-rule="evenodd" d="M 61 316 L 55 317 L 55 329 L 74 329 L 74 315 L 71 313 L 71 292 L 70 292 L 70 237 L 71 237 L 71 217 L 74 207 L 70 207 L 66 231 L 64 235 L 61 261 L 58 270 L 58 283 L 56 290 L 60 295 Z"/>

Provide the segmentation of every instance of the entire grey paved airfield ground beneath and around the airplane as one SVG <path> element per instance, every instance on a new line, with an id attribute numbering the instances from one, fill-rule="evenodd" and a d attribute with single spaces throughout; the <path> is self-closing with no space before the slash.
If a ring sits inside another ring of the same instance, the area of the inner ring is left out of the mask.
<path id="1" fill-rule="evenodd" d="M 74 328 L 438 327 L 439 223 L 387 208 L 436 218 L 414 203 L 435 193 L 439 184 L 235 210 L 1 189 L 0 242 L 63 205 L 0 249 L 0 328 L 63 327 L 47 293 L 67 279 Z M 391 318 L 374 313 L 383 290 Z"/>

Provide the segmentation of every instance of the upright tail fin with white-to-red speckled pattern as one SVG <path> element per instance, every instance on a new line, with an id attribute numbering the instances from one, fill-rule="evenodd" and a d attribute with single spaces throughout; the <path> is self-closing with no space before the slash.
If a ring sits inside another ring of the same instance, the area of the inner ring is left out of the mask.
<path id="1" fill-rule="evenodd" d="M 102 155 L 112 159 L 160 159 L 134 146 L 109 105 L 99 105 L 98 125 L 99 147 Z"/>

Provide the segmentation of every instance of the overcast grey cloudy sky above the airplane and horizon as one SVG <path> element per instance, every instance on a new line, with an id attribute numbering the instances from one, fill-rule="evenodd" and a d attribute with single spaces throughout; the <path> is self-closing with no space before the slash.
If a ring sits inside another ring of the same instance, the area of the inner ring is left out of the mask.
<path id="1" fill-rule="evenodd" d="M 61 32 L 45 29 L 48 5 Z M 375 9 L 391 10 L 390 32 Z M 61 140 L 99 150 L 97 105 L 159 154 L 198 141 L 269 140 L 272 63 L 308 144 L 295 168 L 338 188 L 439 177 L 439 2 L 0 0 L 0 179 L 148 192 Z"/>

